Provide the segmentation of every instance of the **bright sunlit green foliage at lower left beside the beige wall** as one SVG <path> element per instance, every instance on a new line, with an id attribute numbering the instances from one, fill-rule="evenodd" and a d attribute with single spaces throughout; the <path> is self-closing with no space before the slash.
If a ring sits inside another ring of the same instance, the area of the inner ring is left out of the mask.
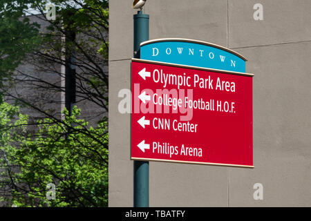
<path id="1" fill-rule="evenodd" d="M 2 201 L 15 206 L 107 206 L 108 133 L 64 111 L 65 119 L 39 120 L 35 135 L 26 135 L 27 116 L 0 105 L 0 189 Z M 15 123 L 13 121 L 15 120 Z M 86 130 L 88 127 L 88 130 Z M 48 184 L 54 184 L 50 199 Z M 10 188 L 8 188 L 10 187 Z M 8 194 L 9 193 L 9 194 Z"/>

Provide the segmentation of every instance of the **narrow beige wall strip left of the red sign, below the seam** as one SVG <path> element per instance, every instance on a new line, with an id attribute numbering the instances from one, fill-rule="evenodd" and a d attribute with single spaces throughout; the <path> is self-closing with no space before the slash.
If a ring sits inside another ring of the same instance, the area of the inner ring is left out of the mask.
<path id="1" fill-rule="evenodd" d="M 131 63 L 109 63 L 109 206 L 133 206 L 133 162 L 130 160 L 130 115 L 121 114 L 117 97 L 130 88 Z"/>

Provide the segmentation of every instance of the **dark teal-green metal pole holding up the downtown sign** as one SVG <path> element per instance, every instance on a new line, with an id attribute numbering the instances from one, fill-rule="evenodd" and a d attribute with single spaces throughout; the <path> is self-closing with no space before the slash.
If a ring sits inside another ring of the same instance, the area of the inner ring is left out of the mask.
<path id="1" fill-rule="evenodd" d="M 140 58 L 140 43 L 149 40 L 149 15 L 134 15 L 134 57 Z M 134 161 L 134 207 L 149 207 L 149 162 Z"/>

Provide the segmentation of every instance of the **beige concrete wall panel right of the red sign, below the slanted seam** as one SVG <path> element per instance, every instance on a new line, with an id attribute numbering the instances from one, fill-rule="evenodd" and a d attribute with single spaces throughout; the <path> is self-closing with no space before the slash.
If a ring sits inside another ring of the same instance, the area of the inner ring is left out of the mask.
<path id="1" fill-rule="evenodd" d="M 311 42 L 237 51 L 255 73 L 255 169 L 229 169 L 229 205 L 310 206 Z M 256 182 L 264 200 L 253 198 Z"/>

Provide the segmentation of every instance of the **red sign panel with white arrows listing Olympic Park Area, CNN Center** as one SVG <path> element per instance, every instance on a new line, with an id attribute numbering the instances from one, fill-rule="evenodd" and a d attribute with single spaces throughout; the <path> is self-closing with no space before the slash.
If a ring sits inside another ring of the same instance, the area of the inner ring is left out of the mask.
<path id="1" fill-rule="evenodd" d="M 253 167 L 252 74 L 132 60 L 131 159 Z"/>

